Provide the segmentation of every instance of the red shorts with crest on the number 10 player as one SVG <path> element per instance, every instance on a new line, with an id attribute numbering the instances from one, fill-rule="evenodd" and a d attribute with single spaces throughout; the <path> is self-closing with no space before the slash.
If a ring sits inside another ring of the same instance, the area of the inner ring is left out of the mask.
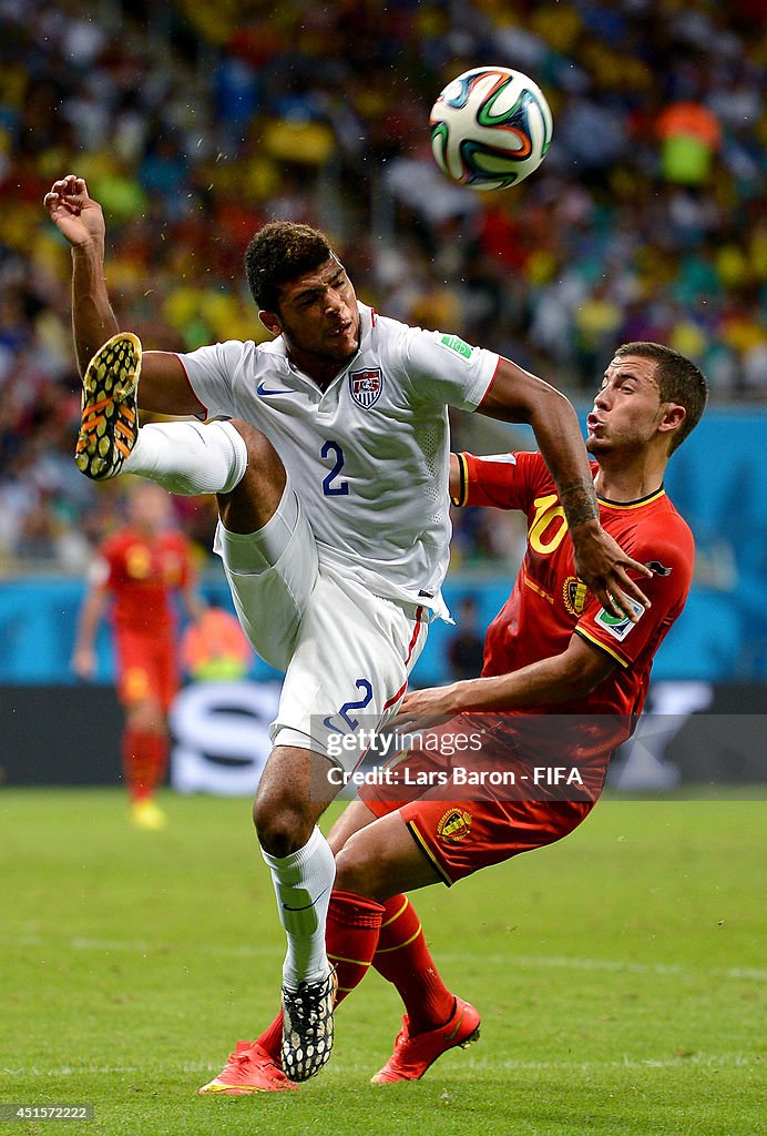
<path id="1" fill-rule="evenodd" d="M 528 729 L 529 725 L 523 724 L 519 730 L 522 743 L 509 718 L 505 717 L 499 725 L 497 715 L 460 716 L 424 735 L 424 738 L 433 738 L 440 733 L 444 736 L 447 730 L 448 736 L 455 737 L 462 729 L 484 730 L 482 757 L 473 768 L 486 774 L 492 770 L 497 779 L 504 771 L 506 777 L 515 774 L 516 783 L 511 786 L 466 786 L 456 769 L 457 766 L 464 770 L 472 768 L 465 753 L 450 753 L 446 759 L 438 751 L 414 749 L 395 763 L 395 786 L 378 782 L 366 784 L 360 791 L 360 800 L 376 817 L 398 811 L 448 886 L 520 852 L 553 844 L 572 833 L 597 803 L 609 753 L 599 758 L 590 753 L 588 761 L 572 759 L 583 778 L 582 785 L 550 785 L 547 782 L 554 774 L 549 772 L 549 767 L 566 769 L 568 752 L 557 750 L 556 762 L 548 761 L 542 755 L 546 744 L 539 747 L 546 725 L 536 721 L 532 730 Z M 536 742 L 534 757 L 525 752 L 525 743 L 531 737 Z M 538 785 L 530 779 L 533 768 L 542 770 Z M 430 779 L 431 784 L 421 787 L 419 779 Z M 415 787 L 403 793 L 403 783 L 415 784 Z"/>

